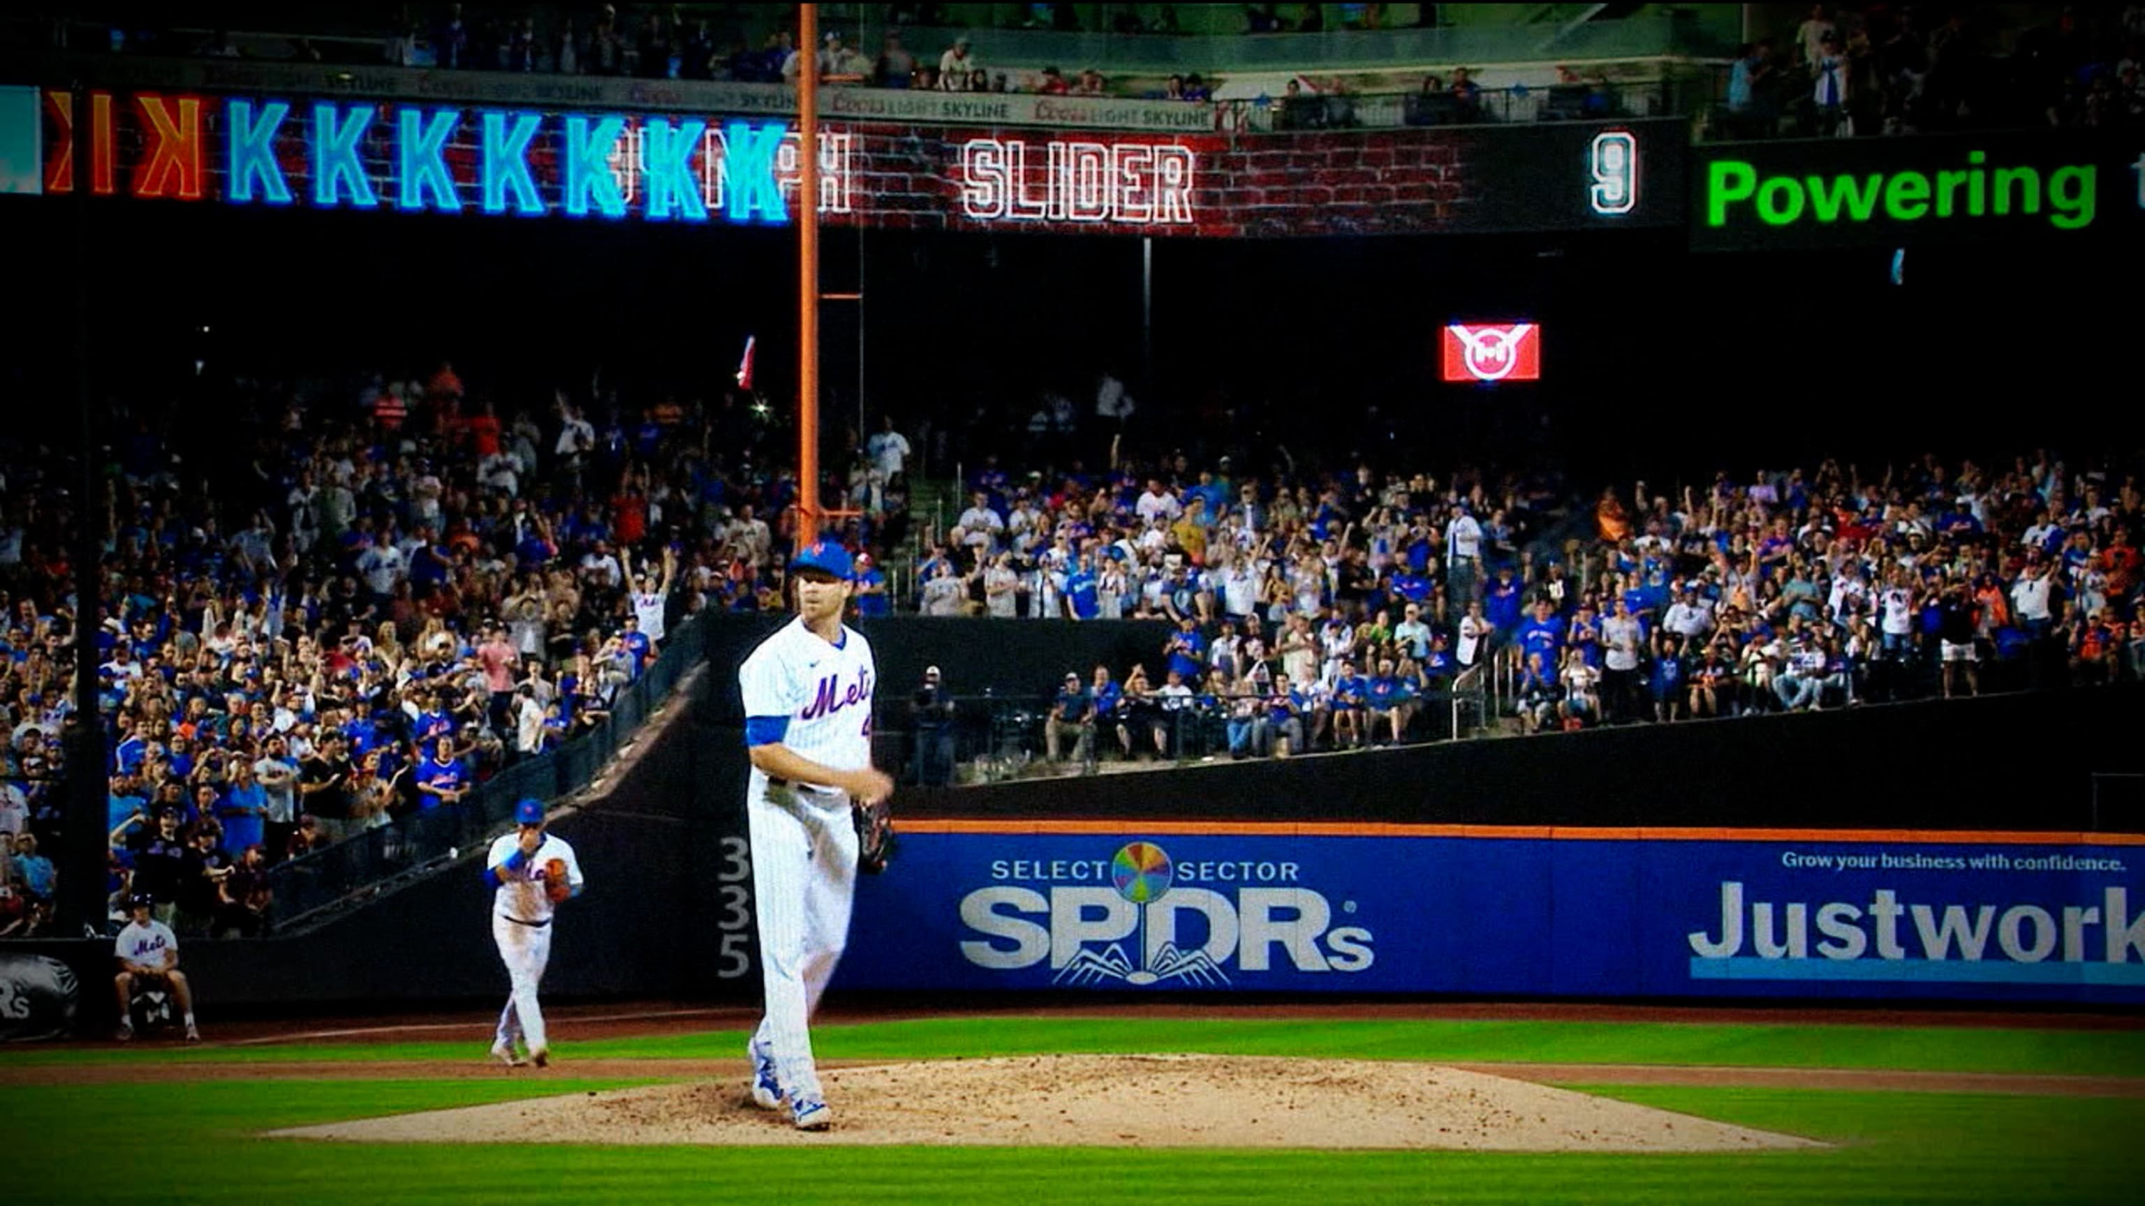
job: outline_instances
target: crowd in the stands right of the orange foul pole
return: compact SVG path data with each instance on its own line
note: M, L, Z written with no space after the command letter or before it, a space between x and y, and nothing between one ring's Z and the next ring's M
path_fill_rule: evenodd
M1012 481L967 483L920 612L1178 629L1124 682L1068 670L1051 760L1448 736L1431 704L1471 667L1517 732L2145 678L2136 479L2048 453L1639 483L1581 530L1514 476Z

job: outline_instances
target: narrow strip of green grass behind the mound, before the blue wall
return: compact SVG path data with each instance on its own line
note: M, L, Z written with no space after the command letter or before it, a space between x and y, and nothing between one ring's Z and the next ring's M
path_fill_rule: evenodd
M573 1024L560 1024L571 1036ZM210 1032L210 1036L214 1036ZM1954 1073L2145 1077L2145 1030L1980 1030L1958 1026L1710 1026L1637 1021L1332 1021L989 1017L813 1028L828 1060L1030 1056L1049 1051L1203 1051L1386 1060L1521 1060L1572 1064L1707 1064L1780 1069L1896 1069ZM470 1060L463 1043L287 1043L262 1047L99 1047L9 1051L0 1067L157 1060ZM575 1058L740 1058L742 1030L553 1045Z

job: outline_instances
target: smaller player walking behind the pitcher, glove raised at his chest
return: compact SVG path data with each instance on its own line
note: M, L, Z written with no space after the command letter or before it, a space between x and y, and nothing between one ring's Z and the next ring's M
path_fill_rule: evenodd
M500 1030L491 1041L491 1058L521 1067L515 1043L538 1069L551 1062L551 1043L543 1030L543 1006L536 985L551 961L551 921L558 906L581 895L581 861L564 837L543 830L543 800L515 805L515 833L502 833L485 858L485 882L491 891L491 940L500 946L511 989L500 1011Z

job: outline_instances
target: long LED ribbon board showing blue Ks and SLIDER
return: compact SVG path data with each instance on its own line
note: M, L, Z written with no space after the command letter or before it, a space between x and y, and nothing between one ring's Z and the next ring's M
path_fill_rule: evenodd
M1680 152L1673 122L1255 137L832 122L817 204L830 225L1214 238L1675 225ZM770 116L0 88L4 193L785 225L798 176L796 129Z

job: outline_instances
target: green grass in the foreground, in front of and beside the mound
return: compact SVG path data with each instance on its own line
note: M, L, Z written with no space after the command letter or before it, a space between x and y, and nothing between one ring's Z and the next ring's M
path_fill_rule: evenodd
M1840 1144L1752 1157L1103 1148L358 1146L270 1127L616 1082L199 1082L6 1088L11 1202L2134 1202L2145 1101L1594 1086Z

